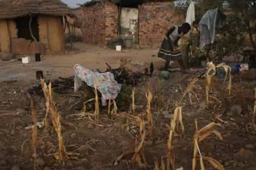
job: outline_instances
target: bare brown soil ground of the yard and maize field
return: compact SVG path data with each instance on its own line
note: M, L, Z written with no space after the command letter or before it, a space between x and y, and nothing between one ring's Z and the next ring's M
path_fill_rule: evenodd
M145 66L135 66L137 63L150 64L154 62L156 69L163 62L157 57L156 50L127 50L120 53L109 49L77 44L80 53L72 52L64 56L45 56L41 62L31 62L23 66L19 62L2 62L0 66L0 168L3 170L19 167L20 170L33 169L32 130L26 130L32 122L30 102L26 90L35 82L35 71L43 70L46 79L59 76L68 77L73 74L72 65L81 64L86 68L105 70L105 62L117 67L121 58L132 60L132 68L141 70ZM143 68L142 68L143 67ZM48 72L47 72L48 71ZM20 74L18 74L20 73ZM10 78L10 74L13 77ZM147 169L154 169L154 160L167 155L167 139L174 102L179 100L193 74L174 72L170 79L162 80L154 74L150 80L153 93L152 112L155 125L154 138L146 138L144 154ZM12 81L13 80L13 81ZM5 82L3 82L5 81ZM256 169L256 128L251 124L254 103L254 82L233 80L231 95L227 95L226 84L216 81L210 98L209 108L205 107L204 79L197 82L195 89L199 101L191 97L193 104L186 96L182 102L183 123L185 134L177 133L173 137L176 168L190 170L193 158L193 135L195 119L198 119L199 129L215 121L221 123L217 128L222 133L223 140L214 135L199 143L204 156L218 160L226 169L253 170ZM129 88L127 88L129 89ZM130 92L129 92L130 91ZM100 118L94 122L89 114L81 115L70 107L74 104L73 94L54 94L54 99L62 117L62 136L67 152L75 152L60 165L53 153L58 152L57 135L54 131L38 129L37 169L44 170L128 170L140 169L132 161L135 139L139 133L137 124L130 122L129 115L143 116L146 114L146 98L144 87L136 91L136 105L142 106L132 114L128 108L131 103L131 90L127 90L125 104L119 103L119 116L106 116L108 108L101 107ZM217 100L216 100L217 99ZM45 100L36 96L37 120L45 116ZM75 115L80 114L80 115ZM219 119L216 117L221 115ZM91 117L93 119L93 117ZM125 154L115 165L117 158ZM199 160L198 160L199 164ZM205 162L207 170L214 169ZM198 166L197 169L200 169Z

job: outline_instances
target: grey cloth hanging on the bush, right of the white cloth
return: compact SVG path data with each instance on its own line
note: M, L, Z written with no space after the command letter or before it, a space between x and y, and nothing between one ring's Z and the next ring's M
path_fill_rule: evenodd
M199 22L201 50L205 45L214 43L217 16L218 8L215 10L208 10Z

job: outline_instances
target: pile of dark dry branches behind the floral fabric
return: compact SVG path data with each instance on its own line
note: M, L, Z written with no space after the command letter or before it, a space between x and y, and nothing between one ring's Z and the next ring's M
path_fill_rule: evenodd
M138 86L138 82L145 82L147 74L145 72L132 72L124 65L127 64L126 61L121 61L120 66L116 69L112 69L111 66L106 63L108 68L104 72L111 72L114 74L115 80L119 84ZM103 73L97 69L98 72ZM45 81L48 85L49 81ZM61 78L52 81L52 89L55 93L59 94L71 94L74 91L74 75L69 78ZM29 94L43 96L43 90L41 84L33 85L29 90Z

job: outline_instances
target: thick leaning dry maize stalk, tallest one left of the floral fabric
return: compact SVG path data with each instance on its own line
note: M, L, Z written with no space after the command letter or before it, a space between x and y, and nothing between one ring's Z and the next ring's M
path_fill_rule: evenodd
M67 154L66 154L66 149L65 149L65 146L63 144L63 139L62 139L62 135L61 135L61 117L60 117L58 109L55 106L55 103L53 101L52 85L51 85L51 83L49 83L49 85L47 86L46 83L43 80L41 80L41 85L42 85L43 92L44 92L44 97L45 97L45 100L46 100L46 103L45 103L45 105L46 105L46 116L48 115L48 113L49 113L49 116L51 116L54 130L55 130L55 132L57 133L57 136L58 136L59 152L58 152L58 154L56 154L54 156L55 156L56 159L59 160L59 163L62 162L62 164L64 164L65 160L67 158Z

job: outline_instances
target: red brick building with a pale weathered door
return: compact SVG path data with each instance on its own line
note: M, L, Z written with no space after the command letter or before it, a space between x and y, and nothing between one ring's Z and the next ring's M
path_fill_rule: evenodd
M76 9L85 43L106 46L108 39L130 37L143 46L159 46L169 27L183 22L174 3L164 0L92 0Z

